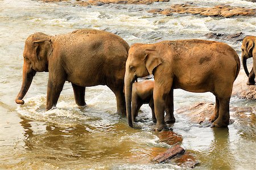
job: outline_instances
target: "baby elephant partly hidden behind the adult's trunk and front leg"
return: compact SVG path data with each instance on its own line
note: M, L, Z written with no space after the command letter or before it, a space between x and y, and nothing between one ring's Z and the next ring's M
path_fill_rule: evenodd
M154 80L143 80L141 82L133 83L133 89L131 94L131 118L134 122L136 121L135 118L138 116L139 108L141 108L143 104L148 104L152 111L152 121L156 123L153 99L154 85ZM165 121L168 123L175 122L172 109L172 105L169 105L166 109L167 114Z

